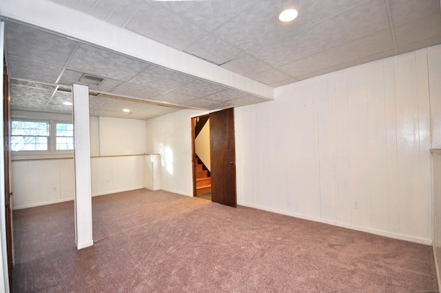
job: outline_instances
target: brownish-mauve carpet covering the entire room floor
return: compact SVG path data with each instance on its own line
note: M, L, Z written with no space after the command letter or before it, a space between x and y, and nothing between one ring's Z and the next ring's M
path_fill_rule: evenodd
M163 191L14 211L13 292L435 292L430 246Z

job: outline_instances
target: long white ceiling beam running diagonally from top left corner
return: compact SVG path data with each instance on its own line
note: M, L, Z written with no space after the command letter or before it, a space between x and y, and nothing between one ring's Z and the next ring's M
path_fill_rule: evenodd
M218 83L225 88L247 92L266 100L274 99L274 89L268 85L58 3L46 0L0 0L0 5L1 15L7 19L22 21L72 39L93 43L127 57ZM12 59L12 62L26 63L19 59ZM38 65L35 67L35 70L39 70Z

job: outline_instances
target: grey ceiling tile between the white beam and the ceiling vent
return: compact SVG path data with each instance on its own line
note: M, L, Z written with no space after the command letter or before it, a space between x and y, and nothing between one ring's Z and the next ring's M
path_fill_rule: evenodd
M97 76L127 81L144 70L145 63L85 44L75 50L67 68Z

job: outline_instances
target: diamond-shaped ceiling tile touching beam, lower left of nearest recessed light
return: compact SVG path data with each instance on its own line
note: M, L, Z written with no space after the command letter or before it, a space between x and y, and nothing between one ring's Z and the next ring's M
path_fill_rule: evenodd
M193 43L184 51L217 65L236 59L240 55L240 50L211 34Z

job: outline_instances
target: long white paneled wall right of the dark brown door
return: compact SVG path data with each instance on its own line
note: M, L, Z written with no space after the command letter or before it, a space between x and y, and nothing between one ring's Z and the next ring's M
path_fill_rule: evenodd
M418 50L236 109L238 204L431 243L434 50L436 60Z

